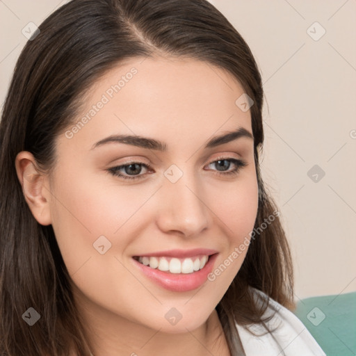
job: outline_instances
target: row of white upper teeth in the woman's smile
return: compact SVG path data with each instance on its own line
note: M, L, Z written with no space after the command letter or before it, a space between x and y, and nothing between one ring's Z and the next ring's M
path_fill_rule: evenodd
M170 273L193 273L204 268L209 256L200 255L199 257L177 259L175 257L139 257L138 261L145 266L158 268Z

